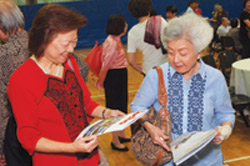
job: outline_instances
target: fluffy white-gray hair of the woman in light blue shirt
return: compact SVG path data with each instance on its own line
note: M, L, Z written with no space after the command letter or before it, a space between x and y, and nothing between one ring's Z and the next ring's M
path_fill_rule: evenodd
M164 45L175 39L187 39L192 42L197 53L204 50L213 38L213 28L208 21L194 13L184 15L169 21L164 29L162 41Z

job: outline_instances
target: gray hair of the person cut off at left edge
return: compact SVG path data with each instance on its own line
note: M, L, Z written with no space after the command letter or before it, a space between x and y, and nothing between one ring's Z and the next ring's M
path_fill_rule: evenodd
M5 34L16 32L24 27L24 17L12 0L0 0L0 29Z

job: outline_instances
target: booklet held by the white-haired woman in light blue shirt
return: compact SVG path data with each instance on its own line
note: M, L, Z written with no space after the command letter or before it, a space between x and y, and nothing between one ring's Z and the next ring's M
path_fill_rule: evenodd
M204 148L215 137L215 130L185 133L170 143L176 165L190 158Z

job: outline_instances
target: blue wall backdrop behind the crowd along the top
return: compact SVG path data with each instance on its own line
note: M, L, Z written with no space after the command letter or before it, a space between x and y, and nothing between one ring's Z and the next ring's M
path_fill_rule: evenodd
M152 0L153 8L157 13L164 18L165 10L168 5L176 5L178 8L178 15L185 12L189 0ZM229 18L239 17L242 11L242 0L200 0L199 8L202 10L204 17L211 17L213 6L216 2L220 2L223 8L229 12ZM137 19L130 16L128 11L128 0L84 0L78 2L64 2L61 3L70 9L77 10L87 17L88 24L79 32L79 40L76 49L93 47L95 41L102 43L105 38L105 27L108 17L112 14L123 14L126 17L130 29L137 23ZM25 16L25 29L29 30L32 20L36 12L44 4L24 5L20 9ZM127 43L127 35L122 37L122 42Z

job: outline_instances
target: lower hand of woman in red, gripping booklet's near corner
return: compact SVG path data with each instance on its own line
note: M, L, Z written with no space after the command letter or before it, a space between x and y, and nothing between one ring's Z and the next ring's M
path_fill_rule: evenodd
M81 153L90 153L92 152L98 145L97 136L87 136L76 139L73 143L73 148L75 152Z

